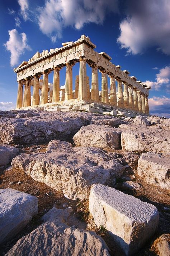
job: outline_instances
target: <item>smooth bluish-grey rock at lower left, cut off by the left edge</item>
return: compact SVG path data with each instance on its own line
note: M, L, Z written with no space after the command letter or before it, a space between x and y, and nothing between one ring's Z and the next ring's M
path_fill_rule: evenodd
M37 213L37 197L11 188L0 189L0 243L14 237Z

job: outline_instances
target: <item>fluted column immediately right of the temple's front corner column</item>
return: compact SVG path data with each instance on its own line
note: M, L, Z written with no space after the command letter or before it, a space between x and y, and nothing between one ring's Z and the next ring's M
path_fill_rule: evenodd
M96 65L92 66L91 99L99 101L98 67Z

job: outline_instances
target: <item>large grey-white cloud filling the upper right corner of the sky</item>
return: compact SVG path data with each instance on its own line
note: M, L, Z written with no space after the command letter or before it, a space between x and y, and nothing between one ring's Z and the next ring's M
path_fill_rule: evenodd
M169 0L130 0L127 17L120 23L121 34L117 42L127 53L142 53L155 46L170 54Z

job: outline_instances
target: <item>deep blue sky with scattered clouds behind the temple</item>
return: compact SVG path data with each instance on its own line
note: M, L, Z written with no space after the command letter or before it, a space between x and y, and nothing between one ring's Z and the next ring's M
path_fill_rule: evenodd
M152 87L151 114L170 117L169 0L8 0L1 1L0 12L1 110L16 103L14 67L85 34L96 51ZM91 77L90 68L87 72ZM78 73L76 64L73 77ZM60 78L64 85L64 68Z

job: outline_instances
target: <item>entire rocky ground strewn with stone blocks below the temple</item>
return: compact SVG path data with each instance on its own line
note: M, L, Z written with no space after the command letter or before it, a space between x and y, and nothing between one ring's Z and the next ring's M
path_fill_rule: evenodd
M169 128L153 116L0 112L0 255L168 255ZM43 237L51 246L36 246Z

